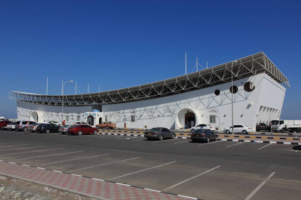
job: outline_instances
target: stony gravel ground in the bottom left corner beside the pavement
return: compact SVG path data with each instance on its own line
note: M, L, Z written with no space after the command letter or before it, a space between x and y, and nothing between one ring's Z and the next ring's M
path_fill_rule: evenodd
M94 200L85 196L58 190L0 175L0 200Z

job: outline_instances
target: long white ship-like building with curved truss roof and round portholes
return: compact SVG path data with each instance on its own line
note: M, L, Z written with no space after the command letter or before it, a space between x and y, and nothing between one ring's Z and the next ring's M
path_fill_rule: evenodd
M259 52L215 67L171 79L99 93L64 95L10 91L17 101L18 120L58 121L66 124L104 121L117 127L180 129L185 121L211 124L218 130L231 126L231 76L234 124L255 130L256 122L279 119L288 79ZM99 111L99 112L92 112Z

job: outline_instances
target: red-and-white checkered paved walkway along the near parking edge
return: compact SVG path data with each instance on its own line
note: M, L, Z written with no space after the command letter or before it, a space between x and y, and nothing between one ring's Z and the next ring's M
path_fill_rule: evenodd
M96 199L197 199L5 161L0 161L0 174Z

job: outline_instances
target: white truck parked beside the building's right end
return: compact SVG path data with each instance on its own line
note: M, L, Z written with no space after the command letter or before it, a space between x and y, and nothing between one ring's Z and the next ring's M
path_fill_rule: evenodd
M287 130L290 133L301 133L301 120L272 120L272 131L284 133Z

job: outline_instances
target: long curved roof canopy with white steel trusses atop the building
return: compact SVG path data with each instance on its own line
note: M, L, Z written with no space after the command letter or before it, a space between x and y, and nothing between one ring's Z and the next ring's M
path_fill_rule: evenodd
M232 61L230 61L208 69L144 85L97 93L64 95L64 106L101 106L180 94L231 82L231 73L233 73L233 80L266 73L279 84L290 88L288 79L263 52L237 59L237 61L237 64L233 64L233 70L231 70ZM10 91L9 99L36 104L62 105L62 95Z

